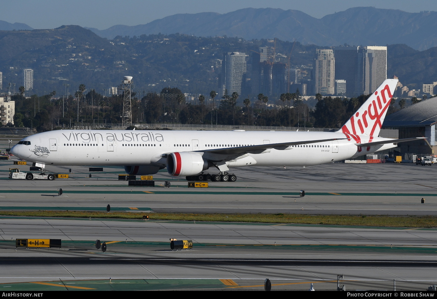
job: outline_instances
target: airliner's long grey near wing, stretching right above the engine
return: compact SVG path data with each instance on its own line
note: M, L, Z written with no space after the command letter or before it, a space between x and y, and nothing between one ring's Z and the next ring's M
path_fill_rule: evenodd
M202 151L197 151L197 152L221 154L221 155L235 155L235 154L243 154L243 153L260 153L262 151L265 151L265 150L271 149L271 148L284 150L291 145L311 144L311 143L317 143L317 142L326 142L326 141L343 140L343 139L347 139L347 138L331 138L331 139L320 139L320 140L270 143L270 144L260 144L260 145L239 146L239 147L234 147L234 148L214 148L214 149L210 149L210 150L202 150Z

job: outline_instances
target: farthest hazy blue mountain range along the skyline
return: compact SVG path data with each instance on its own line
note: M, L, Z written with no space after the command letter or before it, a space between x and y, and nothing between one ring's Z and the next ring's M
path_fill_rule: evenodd
M303 45L338 46L406 44L416 50L437 46L437 12L354 7L317 19L299 10L244 8L226 14L175 14L148 24L87 28L103 38L142 34L228 36L246 40L278 38ZM0 21L0 30L32 30L26 24Z

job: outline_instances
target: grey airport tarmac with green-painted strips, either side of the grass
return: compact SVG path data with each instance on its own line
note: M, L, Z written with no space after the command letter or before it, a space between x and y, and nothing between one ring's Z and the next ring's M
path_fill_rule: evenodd
M0 175L7 175L10 164L0 164ZM210 182L208 189L189 189L186 181L172 179L164 172L154 179L167 179L170 188L128 187L127 182L117 180L119 168L105 168L106 173L86 178L89 172L81 167L72 169L73 178L67 180L1 180L0 206L2 210L105 210L110 204L111 209L132 213L435 215L433 166L335 163L297 169L253 167L237 169L235 183ZM67 169L53 171L65 173ZM64 190L62 196L57 196L59 188ZM298 196L300 189L306 191L303 198ZM128 289L261 290L264 279L269 278L274 290L305 290L311 282L316 290L335 290L337 275L343 274L341 284L347 290L390 290L393 284L396 289L425 290L436 284L435 232L2 217L0 282L6 284L0 287L121 290L129 284ZM191 251L170 251L171 237L192 240L194 247ZM16 238L62 239L62 248L16 250ZM109 242L105 253L95 248L97 239ZM111 284L109 278L113 279Z

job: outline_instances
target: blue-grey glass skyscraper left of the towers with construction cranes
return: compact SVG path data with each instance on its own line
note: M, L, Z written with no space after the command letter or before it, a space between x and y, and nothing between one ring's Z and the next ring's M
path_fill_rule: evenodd
M243 78L246 78L246 53L230 52L223 55L222 62L223 92L228 90L229 94L237 92L241 94Z

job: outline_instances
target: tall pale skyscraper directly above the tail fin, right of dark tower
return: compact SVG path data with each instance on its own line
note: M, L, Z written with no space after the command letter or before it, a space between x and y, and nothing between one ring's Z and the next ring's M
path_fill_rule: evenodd
M367 46L358 50L355 95L370 94L387 79L387 47Z

